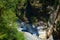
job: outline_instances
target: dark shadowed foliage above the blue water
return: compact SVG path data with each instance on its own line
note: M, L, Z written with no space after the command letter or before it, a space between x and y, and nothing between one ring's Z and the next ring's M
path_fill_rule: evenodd
M58 0L22 0L17 5L17 13L16 15L20 20L24 20L26 17L30 23L34 21L34 18L31 20L31 17L36 17L37 22L43 20L47 22L49 20L49 12L56 10L57 5L59 4ZM47 8L51 6L51 8Z

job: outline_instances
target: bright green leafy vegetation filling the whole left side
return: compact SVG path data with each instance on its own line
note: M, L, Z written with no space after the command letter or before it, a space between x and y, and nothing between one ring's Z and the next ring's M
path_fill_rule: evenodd
M0 0L0 40L24 40L24 35L17 30L15 15L19 0Z

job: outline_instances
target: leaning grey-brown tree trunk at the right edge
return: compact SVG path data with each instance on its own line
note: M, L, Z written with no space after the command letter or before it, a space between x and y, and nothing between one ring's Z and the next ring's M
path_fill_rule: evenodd
M50 26L50 28L49 28L48 35L52 34L52 32L56 32L56 30L54 30L54 29L57 28L56 24L58 21L56 21L56 20L57 20L58 15L59 15L59 9L60 9L59 3L60 2L58 1L58 4L57 5L55 4L56 9L50 15L50 24L48 24ZM54 33L53 33L53 35L54 35ZM56 38L56 36L55 36L55 38Z

